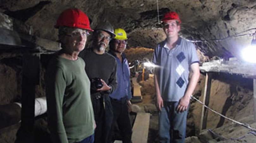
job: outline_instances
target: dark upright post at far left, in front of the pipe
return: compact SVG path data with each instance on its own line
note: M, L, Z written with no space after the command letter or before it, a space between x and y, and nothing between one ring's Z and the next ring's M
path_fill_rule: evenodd
M21 127L15 143L34 143L35 85L39 84L40 59L32 53L23 54Z

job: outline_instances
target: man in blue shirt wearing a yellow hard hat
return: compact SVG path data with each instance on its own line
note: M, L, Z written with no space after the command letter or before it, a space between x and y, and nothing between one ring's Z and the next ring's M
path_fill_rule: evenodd
M131 143L131 122L129 112L131 112L131 85L130 70L125 54L123 54L126 44L127 35L125 30L118 28L114 30L116 37L110 41L109 53L116 58L117 63L117 88L110 94L111 104L113 107L113 124L118 124L121 131L123 143Z

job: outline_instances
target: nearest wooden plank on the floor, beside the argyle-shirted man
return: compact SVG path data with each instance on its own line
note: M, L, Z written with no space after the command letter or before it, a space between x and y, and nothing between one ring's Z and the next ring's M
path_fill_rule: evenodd
M147 143L149 133L149 113L137 113L132 127L132 143Z

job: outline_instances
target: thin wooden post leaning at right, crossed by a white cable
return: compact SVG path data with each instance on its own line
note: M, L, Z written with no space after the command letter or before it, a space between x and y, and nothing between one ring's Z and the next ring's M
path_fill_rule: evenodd
M204 97L202 101L206 106L209 105L209 101L210 101L211 79L212 79L212 74L209 72L206 72L205 85L204 85ZM201 114L200 131L203 129L206 129L207 116L208 116L208 110L203 106L202 114Z

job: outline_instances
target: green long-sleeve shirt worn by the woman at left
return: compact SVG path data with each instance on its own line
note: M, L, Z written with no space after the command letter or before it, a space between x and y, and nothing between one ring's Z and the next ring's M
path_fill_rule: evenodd
M90 81L82 58L53 58L46 71L48 124L54 143L81 141L94 133Z

